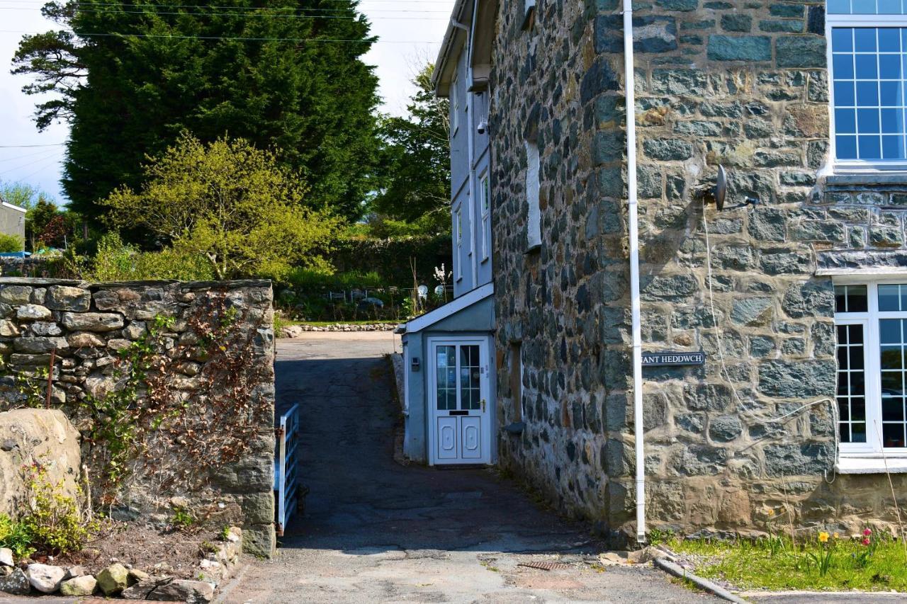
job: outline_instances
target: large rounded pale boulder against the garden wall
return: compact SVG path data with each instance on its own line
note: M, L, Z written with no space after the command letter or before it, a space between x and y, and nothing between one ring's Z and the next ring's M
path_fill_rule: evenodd
M82 467L80 434L59 409L15 409L0 413L0 513L14 514L26 488L22 466L41 461L47 480L62 484L61 495L78 500ZM8 447L8 444L14 446Z

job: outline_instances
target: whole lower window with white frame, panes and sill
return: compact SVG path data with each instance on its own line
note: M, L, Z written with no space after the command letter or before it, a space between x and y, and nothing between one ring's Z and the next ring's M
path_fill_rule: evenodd
M907 470L907 278L834 278L838 471Z

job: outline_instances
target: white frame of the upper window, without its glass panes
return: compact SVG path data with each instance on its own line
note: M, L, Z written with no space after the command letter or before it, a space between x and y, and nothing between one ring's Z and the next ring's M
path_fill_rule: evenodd
M907 27L907 15L825 15L825 53L828 68L829 153L834 172L839 174L907 173L904 160L838 160L834 130L834 72L832 29L834 27ZM905 53L907 54L907 53ZM904 78L907 80L907 78ZM905 100L907 105L907 100Z

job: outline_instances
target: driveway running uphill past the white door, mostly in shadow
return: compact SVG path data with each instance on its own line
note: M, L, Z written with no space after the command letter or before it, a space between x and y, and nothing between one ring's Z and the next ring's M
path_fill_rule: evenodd
M302 403L305 513L241 602L703 602L658 570L595 563L588 530L490 470L395 463L390 334L278 341L278 406ZM561 568L520 566L557 561Z

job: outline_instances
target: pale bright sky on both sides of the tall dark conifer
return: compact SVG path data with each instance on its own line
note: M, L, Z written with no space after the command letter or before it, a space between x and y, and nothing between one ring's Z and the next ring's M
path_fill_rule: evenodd
M365 61L375 65L378 93L384 100L382 112L405 114L414 93L410 81L424 63L434 61L453 2L360 0L360 11L371 22L372 34L378 36ZM59 180L68 128L53 124L38 132L32 120L38 99L22 93L26 76L10 73L22 34L57 28L41 15L43 4L42 0L0 0L0 181L23 182L65 203Z

